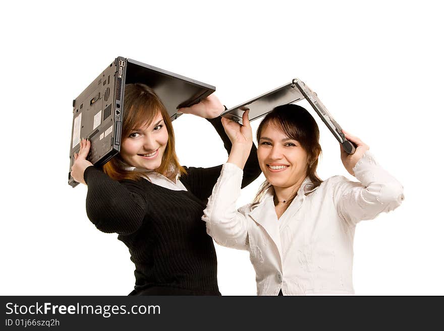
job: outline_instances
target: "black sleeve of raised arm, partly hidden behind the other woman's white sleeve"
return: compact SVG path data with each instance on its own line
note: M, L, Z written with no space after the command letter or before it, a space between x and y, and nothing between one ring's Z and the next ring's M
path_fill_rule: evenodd
M214 126L217 134L220 136L224 142L224 147L230 154L231 151L231 141L225 133L224 126L221 123L221 117L216 117L208 119L208 121ZM186 168L187 174L181 177L181 181L187 184L190 191L193 192L200 200L206 202L211 194L214 184L220 175L220 170L222 165L210 167L210 168ZM250 184L255 180L261 173L259 162L257 160L257 149L253 144L250 150L250 155L244 167L243 177L242 177L242 188Z

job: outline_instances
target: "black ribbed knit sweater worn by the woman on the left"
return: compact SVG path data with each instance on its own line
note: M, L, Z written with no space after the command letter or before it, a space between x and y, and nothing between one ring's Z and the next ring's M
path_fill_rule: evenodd
M231 143L220 117L209 120L224 141ZM86 212L103 232L119 233L136 266L131 294L220 295L213 241L201 220L222 166L186 168L180 180L188 191L175 191L146 179L121 182L88 167ZM260 174L253 145L242 186Z

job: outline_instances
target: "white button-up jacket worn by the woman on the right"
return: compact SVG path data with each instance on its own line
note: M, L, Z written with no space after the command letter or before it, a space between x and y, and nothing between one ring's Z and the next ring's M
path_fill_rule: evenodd
M352 295L353 238L360 220L392 211L403 186L370 152L353 168L360 182L330 177L311 193L307 177L278 217L268 190L259 204L236 210L243 171L226 163L202 219L223 246L250 251L258 295Z

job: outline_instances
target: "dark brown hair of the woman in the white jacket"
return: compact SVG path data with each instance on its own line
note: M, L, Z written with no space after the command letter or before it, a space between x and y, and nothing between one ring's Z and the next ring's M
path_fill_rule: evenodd
M319 186L322 182L316 174L318 158L322 152L319 145L319 127L316 121L304 107L294 104L275 107L264 117L257 128L256 138L258 144L262 129L270 123L281 129L289 138L297 140L305 152L307 152L308 166L306 176L312 182L312 185L306 187L305 194L308 194L309 191ZM267 189L271 186L265 180L259 187L253 203L259 203ZM291 204L296 194L297 192L289 199L288 205Z

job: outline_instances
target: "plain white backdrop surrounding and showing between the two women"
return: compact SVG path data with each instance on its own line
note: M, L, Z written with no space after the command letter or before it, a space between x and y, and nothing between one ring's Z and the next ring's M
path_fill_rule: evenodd
M356 294L443 295L444 26L438 3L4 4L0 294L132 290L128 249L88 220L86 186L67 184L72 100L124 56L214 85L228 107L292 78L305 81L405 187L399 209L356 228ZM320 177L346 175L336 140L318 123ZM205 120L183 115L174 127L182 164L226 161ZM239 206L262 180L244 189ZM220 292L255 295L248 253L216 250Z

